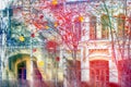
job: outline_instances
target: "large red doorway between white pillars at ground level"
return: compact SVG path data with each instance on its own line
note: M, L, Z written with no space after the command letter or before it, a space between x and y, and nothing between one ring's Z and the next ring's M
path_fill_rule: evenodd
M93 87L108 87L109 64L105 60L90 61L90 82Z

